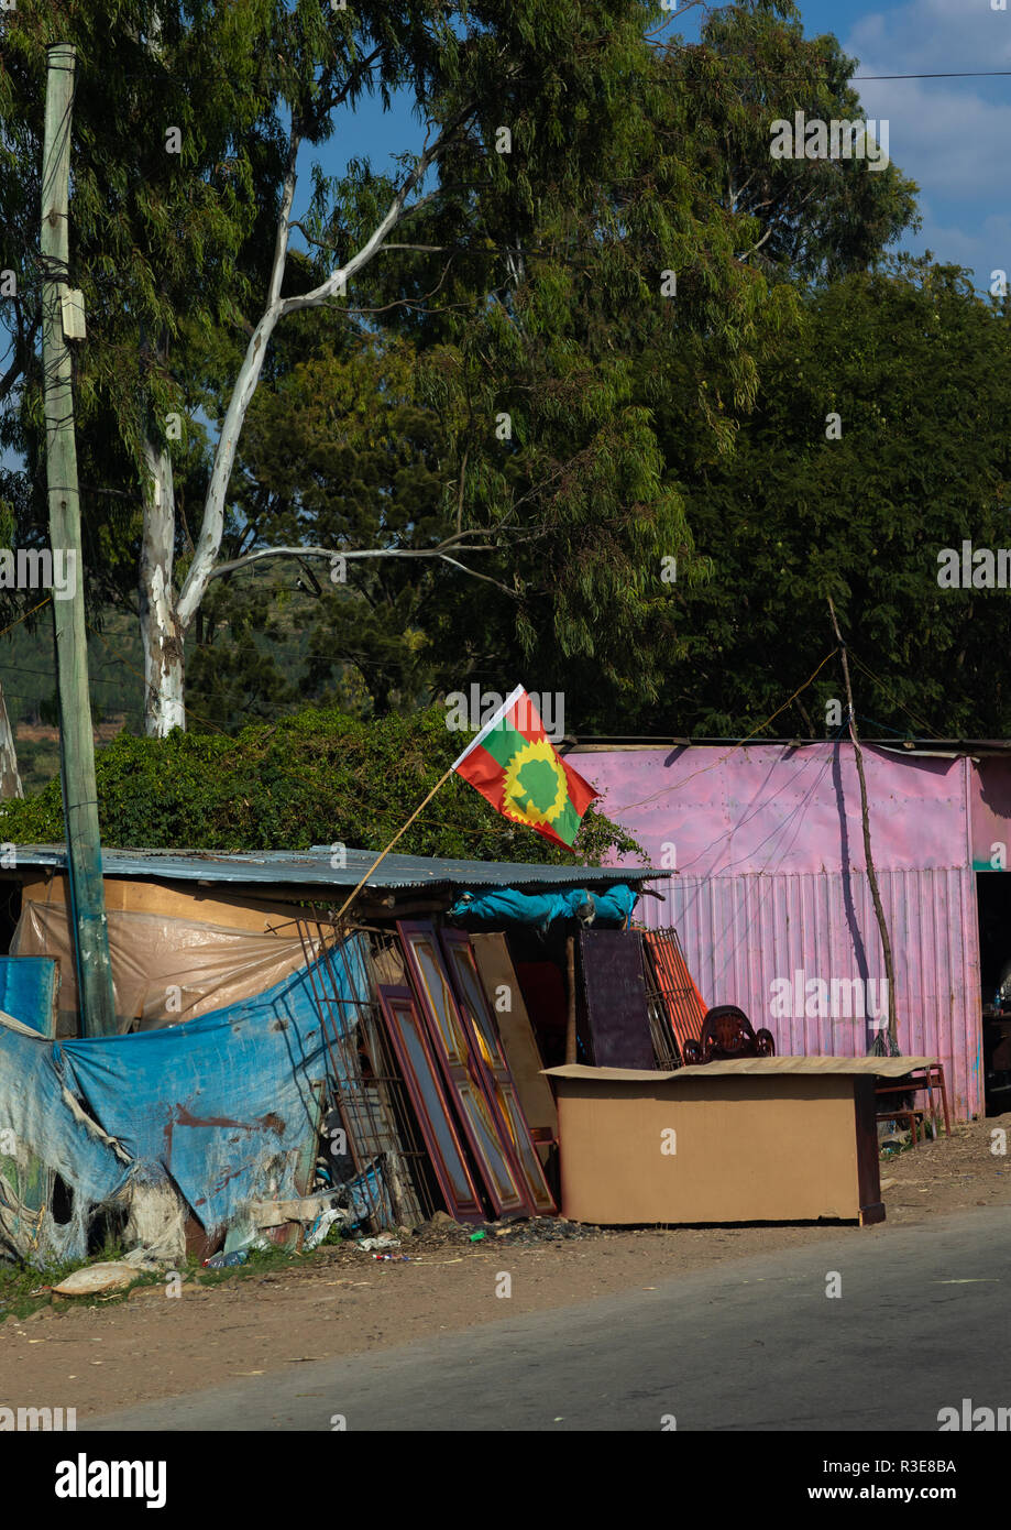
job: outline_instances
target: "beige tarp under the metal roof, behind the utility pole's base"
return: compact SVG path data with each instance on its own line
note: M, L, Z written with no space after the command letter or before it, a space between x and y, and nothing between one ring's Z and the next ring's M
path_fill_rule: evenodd
M116 1016L122 1030L135 1021L142 1031L176 1025L237 999L251 999L306 961L291 926L283 935L258 935L161 913L110 909L107 918ZM61 903L23 904L11 955L55 956L60 1013L76 1014L73 952Z

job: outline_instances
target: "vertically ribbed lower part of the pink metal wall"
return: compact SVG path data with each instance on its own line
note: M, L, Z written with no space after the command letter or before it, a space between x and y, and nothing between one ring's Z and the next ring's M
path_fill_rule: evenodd
M941 1057L953 1112L965 1120L982 1111L971 872L886 871L878 881L895 953L899 1050ZM878 1008L884 961L864 874L671 877L655 886L665 901L644 898L639 915L653 929L676 926L708 1005L739 1004L756 1030L768 1025L779 1053L866 1056L873 1024L818 1014L818 994L806 988L817 978L872 978ZM774 1013L774 994L783 991L772 988L775 979L798 988L800 1005L785 1007L800 1013Z

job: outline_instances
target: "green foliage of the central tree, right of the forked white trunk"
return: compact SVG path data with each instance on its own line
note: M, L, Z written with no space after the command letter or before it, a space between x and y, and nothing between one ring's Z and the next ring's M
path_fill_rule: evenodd
M480 199L447 190L413 256L370 268L367 320L278 344L242 444L243 534L424 548L473 529L489 551L468 562L496 581L349 565L307 617L310 693L330 678L340 695L350 664L378 711L519 678L564 690L583 728L656 715L696 649L662 569L676 560L678 594L716 572L693 482L733 453L762 358L803 321L797 291L913 219L893 165L769 158L777 115L858 115L852 67L789 5L720 11L699 46L641 50L592 188L514 226L515 133ZM450 184L457 168L447 156ZM340 219L318 233L347 237Z

